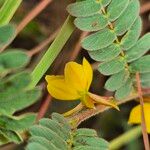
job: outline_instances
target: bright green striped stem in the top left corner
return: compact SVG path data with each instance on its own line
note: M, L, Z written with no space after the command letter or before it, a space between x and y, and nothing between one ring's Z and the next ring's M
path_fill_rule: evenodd
M0 9L0 26L8 24L22 0L6 0Z

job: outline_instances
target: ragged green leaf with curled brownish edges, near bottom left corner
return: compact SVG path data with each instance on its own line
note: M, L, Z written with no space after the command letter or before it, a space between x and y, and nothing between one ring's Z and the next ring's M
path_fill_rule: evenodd
M25 114L19 117L0 116L0 145L23 141L21 133L28 129L35 121L35 114Z

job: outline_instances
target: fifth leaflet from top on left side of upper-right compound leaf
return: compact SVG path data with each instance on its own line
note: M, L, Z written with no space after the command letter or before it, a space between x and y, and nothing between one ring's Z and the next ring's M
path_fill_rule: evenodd
M112 75L125 69L125 59L118 57L111 61L101 63L98 70L104 75Z

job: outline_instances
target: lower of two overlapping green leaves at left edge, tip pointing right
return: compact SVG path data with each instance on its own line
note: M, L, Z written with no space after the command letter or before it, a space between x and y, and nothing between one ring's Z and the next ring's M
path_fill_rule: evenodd
M1 92L0 93L0 113L10 115L15 111L22 110L37 101L40 97L40 90L35 88L30 91L22 91L17 93Z

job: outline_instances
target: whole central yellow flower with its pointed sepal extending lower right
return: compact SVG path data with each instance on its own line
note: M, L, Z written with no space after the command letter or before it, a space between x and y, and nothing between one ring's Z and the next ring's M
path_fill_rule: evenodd
M46 76L48 92L56 99L81 100L87 108L94 108L95 103L101 103L118 109L114 102L89 92L92 79L92 67L85 58L82 65L76 62L67 63L64 76Z

